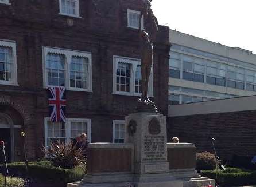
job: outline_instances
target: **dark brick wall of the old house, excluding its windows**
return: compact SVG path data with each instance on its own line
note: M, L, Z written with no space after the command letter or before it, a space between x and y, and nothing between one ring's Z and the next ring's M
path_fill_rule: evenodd
M138 30L127 27L127 9L141 9L135 0L80 0L80 16L59 14L59 0L10 0L0 3L0 39L16 41L19 86L0 85L5 97L24 119L31 157L40 156L44 144L44 117L48 117L43 88L42 46L60 47L92 54L92 93L67 91L67 117L90 118L92 141L112 141L112 120L132 113L138 97L114 95L113 55L140 58ZM73 26L67 22L73 21ZM169 28L161 26L154 46L153 100L168 113ZM0 102L0 107L9 102ZM24 130L22 129L22 130ZM34 151L36 150L36 152Z

